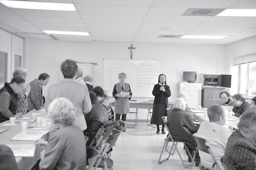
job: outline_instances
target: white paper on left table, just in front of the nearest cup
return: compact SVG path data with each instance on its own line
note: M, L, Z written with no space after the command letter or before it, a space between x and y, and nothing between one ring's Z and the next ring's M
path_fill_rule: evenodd
M13 136L11 141L36 141L48 132L49 130L25 130Z

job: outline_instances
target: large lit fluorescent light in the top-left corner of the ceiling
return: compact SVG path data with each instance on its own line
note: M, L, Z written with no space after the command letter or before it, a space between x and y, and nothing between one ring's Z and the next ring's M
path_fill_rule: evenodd
M9 8L76 11L76 8L73 4L29 2L16 0L1 0L0 2Z

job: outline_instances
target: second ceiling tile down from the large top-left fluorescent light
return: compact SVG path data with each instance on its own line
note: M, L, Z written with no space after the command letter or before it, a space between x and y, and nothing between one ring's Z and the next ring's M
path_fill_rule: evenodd
M38 22L57 22L57 23L83 23L81 18L63 18L63 17L38 17L21 15L26 21L38 21Z

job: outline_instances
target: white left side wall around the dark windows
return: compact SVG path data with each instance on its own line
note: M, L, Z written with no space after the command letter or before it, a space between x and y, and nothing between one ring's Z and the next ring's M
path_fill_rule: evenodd
M8 53L7 82L10 82L13 77L15 55L21 56L22 61L24 59L24 39L0 29L0 51ZM2 86L3 84L0 84L0 88Z

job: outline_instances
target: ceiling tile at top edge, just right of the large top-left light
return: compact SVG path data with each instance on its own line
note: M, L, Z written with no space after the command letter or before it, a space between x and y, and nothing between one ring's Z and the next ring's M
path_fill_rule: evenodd
M150 6L153 0L73 0L76 4Z

